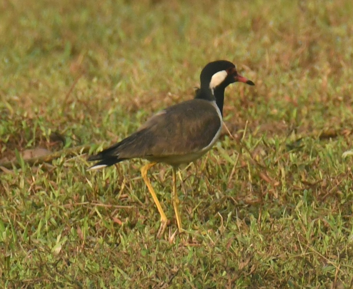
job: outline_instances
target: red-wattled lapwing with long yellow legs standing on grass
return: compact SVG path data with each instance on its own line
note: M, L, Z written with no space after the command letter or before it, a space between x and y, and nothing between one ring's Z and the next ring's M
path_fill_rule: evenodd
M157 238L163 235L168 219L147 176L148 170L157 163L172 166L172 203L179 232L183 232L178 209L177 170L180 165L200 158L218 140L223 126L225 88L234 82L255 85L239 75L230 61L216 60L208 63L201 71L200 88L196 90L194 99L157 112L130 136L88 157L88 161L98 161L88 170L101 169L134 158L149 161L141 168L141 175L161 217Z

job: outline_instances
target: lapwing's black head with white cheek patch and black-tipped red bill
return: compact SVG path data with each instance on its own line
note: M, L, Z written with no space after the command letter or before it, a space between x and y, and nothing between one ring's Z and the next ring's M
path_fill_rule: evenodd
M239 75L235 65L227 60L216 60L207 64L200 75L201 88L214 90L217 87L226 88L233 82L244 82L249 85L254 83Z

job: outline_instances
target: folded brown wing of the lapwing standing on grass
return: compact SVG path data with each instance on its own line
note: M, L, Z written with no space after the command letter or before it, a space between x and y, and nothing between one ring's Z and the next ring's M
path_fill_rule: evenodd
M220 117L209 101L193 99L152 116L137 132L115 146L119 158L167 157L207 147L220 129Z

